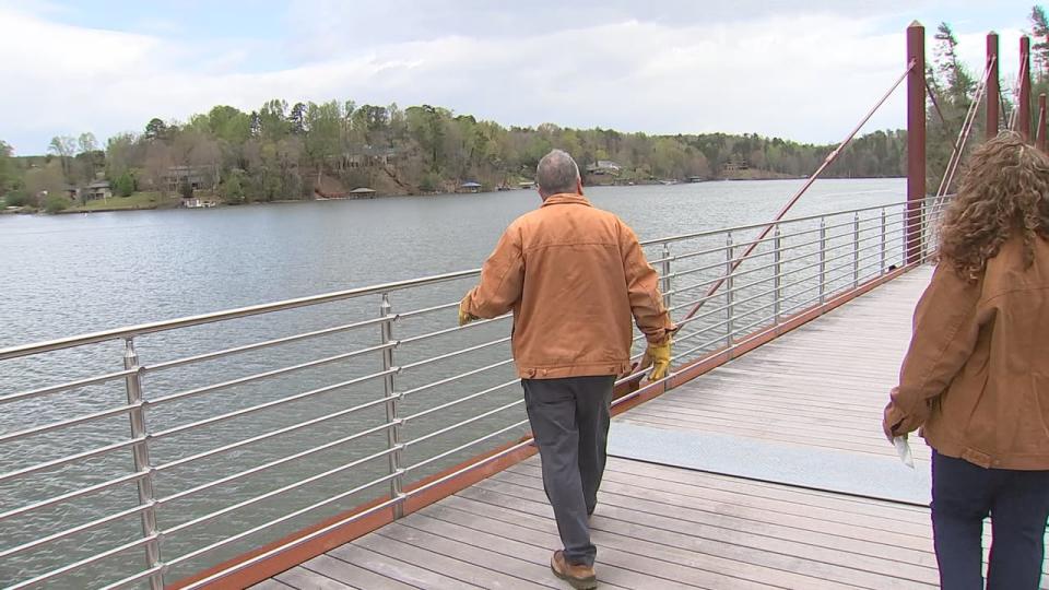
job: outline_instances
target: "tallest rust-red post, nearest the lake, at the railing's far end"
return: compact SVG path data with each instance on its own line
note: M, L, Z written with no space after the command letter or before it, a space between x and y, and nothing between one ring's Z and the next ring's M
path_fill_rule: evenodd
M921 210L926 200L926 27L907 27L907 263L921 258Z

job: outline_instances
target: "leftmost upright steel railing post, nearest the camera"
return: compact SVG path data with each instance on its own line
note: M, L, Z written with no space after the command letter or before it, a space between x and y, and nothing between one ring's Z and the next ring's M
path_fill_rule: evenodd
M144 475L138 482L139 504L146 506L142 511L142 535L156 534L156 504L153 493L153 464L150 462L150 444L145 425L145 406L142 402L142 370L139 364L139 354L134 350L134 340L127 338L123 341L123 368L134 370L123 378L128 394L128 405L133 406L129 412L131 418L131 438L144 438L131 447L131 457L134 460L135 473ZM145 567L152 569L161 564L161 543L154 539L145 545ZM150 576L150 588L163 590L164 573L157 571Z

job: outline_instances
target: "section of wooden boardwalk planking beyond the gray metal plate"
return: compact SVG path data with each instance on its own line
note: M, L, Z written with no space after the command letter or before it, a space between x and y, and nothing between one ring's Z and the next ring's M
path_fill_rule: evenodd
M881 413L930 269L892 281L617 420L879 456ZM924 445L914 445L924 461Z

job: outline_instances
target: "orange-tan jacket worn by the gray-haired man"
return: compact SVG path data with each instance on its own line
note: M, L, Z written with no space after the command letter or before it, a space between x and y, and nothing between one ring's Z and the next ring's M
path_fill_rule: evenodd
M514 311L514 359L527 379L622 375L632 316L652 343L671 328L634 232L581 194L554 194L511 223L462 305L479 318Z

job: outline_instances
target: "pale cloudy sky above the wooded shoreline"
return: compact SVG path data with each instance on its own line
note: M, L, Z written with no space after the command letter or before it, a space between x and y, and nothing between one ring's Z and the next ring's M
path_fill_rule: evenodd
M281 97L433 104L504 125L838 141L903 71L904 28L951 23L1003 79L1014 0L0 0L0 139L43 153L152 117ZM1003 82L1005 85L1007 82ZM869 130L898 128L894 99Z

